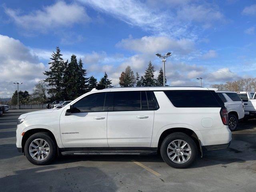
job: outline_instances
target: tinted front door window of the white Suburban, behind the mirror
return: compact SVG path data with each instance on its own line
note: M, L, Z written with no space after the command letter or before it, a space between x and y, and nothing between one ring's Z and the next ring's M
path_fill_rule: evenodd
M104 111L106 92L90 94L73 106L72 112L101 112ZM106 111L106 109L105 109Z

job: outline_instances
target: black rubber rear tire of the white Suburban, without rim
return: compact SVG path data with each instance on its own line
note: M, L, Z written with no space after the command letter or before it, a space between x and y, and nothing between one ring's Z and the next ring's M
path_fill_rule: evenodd
M190 145L191 156L187 160L187 162L178 164L178 163L173 162L172 160L170 160L170 158L168 157L167 147L174 140L184 140L185 142L187 142ZM198 154L198 149L197 149L196 143L194 142L194 140L190 136L188 136L187 134L182 133L182 132L175 132L175 133L172 133L172 134L168 135L163 140L163 142L161 144L161 147L160 147L160 154L161 154L162 159L164 160L164 162L166 162L169 166L171 166L173 168L187 168L196 160L196 157L197 157L197 154Z

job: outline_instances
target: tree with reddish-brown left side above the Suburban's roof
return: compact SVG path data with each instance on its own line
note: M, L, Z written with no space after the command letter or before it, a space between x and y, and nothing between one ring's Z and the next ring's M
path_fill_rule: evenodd
M136 83L136 79L134 77L134 72L132 71L130 66L127 66L125 71L122 72L119 78L119 84L121 87L133 87Z

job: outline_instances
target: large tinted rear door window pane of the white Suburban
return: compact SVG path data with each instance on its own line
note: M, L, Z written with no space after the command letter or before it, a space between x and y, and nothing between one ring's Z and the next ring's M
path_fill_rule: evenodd
M114 111L141 110L140 91L114 92Z

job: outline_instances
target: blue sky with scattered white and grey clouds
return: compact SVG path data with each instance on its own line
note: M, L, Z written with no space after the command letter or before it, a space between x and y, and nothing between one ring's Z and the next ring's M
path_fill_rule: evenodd
M126 66L167 84L203 86L255 78L256 0L3 0L0 2L0 98L33 91L56 46L81 58L88 77L107 72L118 86Z

